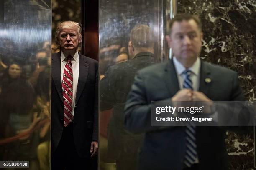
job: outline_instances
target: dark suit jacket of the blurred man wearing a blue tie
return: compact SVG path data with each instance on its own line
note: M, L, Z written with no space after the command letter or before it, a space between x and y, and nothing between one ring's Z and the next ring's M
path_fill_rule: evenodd
M205 78L211 82L206 83ZM146 132L141 148L140 170L182 170L185 154L185 127L160 129L151 126L151 101L171 103L179 90L173 61L140 70L125 105L125 125L133 133ZM244 100L236 72L201 60L200 87L213 101ZM197 126L197 153L200 170L227 170L225 130Z

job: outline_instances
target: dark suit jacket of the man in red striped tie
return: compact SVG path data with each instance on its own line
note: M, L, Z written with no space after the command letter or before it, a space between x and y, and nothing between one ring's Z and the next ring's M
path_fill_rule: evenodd
M64 105L60 52L52 54L51 65L51 152L63 132ZM73 119L74 144L81 157L90 157L92 140L98 138L98 62L79 54L79 78Z

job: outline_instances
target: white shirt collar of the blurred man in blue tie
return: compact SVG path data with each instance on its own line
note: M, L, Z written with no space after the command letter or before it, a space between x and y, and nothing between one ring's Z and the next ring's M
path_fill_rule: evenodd
M173 63L178 75L182 75L182 73L186 70L186 68L182 65L182 63L180 63L177 60L176 57L173 57ZM197 57L197 60L195 61L195 63L191 67L189 67L188 70L190 70L195 75L199 75L200 63L201 63L200 58Z

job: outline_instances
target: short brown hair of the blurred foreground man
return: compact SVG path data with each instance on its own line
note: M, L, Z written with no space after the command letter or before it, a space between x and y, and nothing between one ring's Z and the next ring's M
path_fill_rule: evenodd
M172 33L172 25L174 24L174 22L176 22L176 21L182 22L183 20L186 20L186 21L194 20L197 23L199 30L202 31L202 23L201 23L200 19L197 18L197 16L188 14L188 13L182 13L182 14L175 15L174 18L172 18L172 20L169 20L168 30L167 30L168 35L171 35L171 33Z

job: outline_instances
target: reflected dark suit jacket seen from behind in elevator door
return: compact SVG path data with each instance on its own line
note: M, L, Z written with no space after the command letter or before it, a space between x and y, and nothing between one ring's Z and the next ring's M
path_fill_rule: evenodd
M113 108L108 122L108 156L112 159L137 159L143 136L126 130L123 110L136 72L154 63L152 53L141 52L132 60L111 66L100 81L100 110Z

